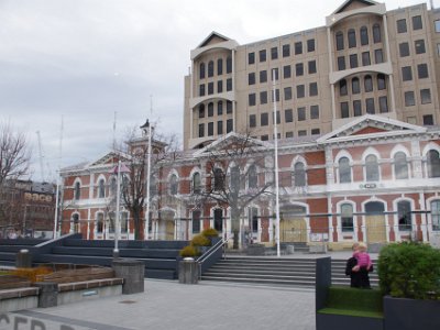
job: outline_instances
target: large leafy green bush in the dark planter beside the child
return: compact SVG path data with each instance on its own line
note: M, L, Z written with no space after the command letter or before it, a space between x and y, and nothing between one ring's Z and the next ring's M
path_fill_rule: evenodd
M440 251L430 245L404 242L383 248L377 273L384 295L440 299Z

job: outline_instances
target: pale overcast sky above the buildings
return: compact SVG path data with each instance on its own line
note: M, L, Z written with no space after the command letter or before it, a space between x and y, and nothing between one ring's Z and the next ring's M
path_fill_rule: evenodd
M343 0L0 0L0 121L28 132L33 178L92 161L150 118L182 139L190 50L212 31L239 44L324 25ZM388 0L387 10L421 3ZM436 3L437 1L435 1ZM436 3L437 4L437 3Z

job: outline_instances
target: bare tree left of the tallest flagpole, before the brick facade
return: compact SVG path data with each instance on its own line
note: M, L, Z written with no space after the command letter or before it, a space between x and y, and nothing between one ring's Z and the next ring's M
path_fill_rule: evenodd
M239 248L240 218L253 201L273 195L273 155L263 142L232 134L208 146L205 153L208 180L199 196L229 206L233 249Z

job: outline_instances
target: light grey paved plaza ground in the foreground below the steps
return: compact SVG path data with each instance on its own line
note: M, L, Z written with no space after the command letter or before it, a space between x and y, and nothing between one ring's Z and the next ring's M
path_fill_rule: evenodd
M145 279L143 294L11 312L8 317L11 324L6 326L0 318L0 329L14 329L12 320L21 318L26 323L18 329L31 329L34 320L45 327L36 327L38 330L312 330L315 292Z

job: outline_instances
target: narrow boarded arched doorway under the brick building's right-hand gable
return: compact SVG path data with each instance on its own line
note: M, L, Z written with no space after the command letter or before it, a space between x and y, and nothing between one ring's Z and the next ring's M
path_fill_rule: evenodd
M367 243L385 243L385 206L382 201L365 204L365 231Z

